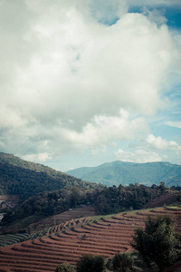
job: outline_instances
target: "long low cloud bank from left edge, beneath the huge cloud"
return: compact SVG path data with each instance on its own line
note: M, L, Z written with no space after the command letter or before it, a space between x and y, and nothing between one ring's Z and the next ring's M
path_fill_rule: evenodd
M104 150L106 146L114 145L115 141L133 140L138 133L148 133L147 122L142 117L130 118L129 112L121 110L118 116L95 116L81 131L62 127L61 123L50 124L49 127L33 122L25 129L24 126L14 128L12 135L9 134L4 141L11 152L25 150L24 159L44 161L89 148L94 153L97 149Z

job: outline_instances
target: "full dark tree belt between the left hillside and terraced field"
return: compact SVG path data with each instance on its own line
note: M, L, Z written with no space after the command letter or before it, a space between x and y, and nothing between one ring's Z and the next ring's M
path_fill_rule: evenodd
M165 194L167 188L164 182L159 186L130 184L127 187L119 185L90 190L87 188L71 187L52 192L42 192L33 196L16 209L14 212L7 212L2 225L12 224L14 220L22 220L31 216L52 216L62 213L68 209L77 208L81 205L93 205L97 214L112 214L120 211L142 209L150 200Z

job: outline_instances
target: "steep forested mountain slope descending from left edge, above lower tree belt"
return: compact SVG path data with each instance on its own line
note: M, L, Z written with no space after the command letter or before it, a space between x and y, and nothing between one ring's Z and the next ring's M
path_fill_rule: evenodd
M65 187L100 188L96 183L0 152L0 195L18 195L23 202L39 192Z

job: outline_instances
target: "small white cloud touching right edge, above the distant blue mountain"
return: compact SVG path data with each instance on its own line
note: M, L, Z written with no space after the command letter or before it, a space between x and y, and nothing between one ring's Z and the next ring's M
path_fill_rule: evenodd
M160 136L155 137L153 134L149 134L146 141L148 145L157 150L181 151L181 146L179 146L176 141L167 141Z

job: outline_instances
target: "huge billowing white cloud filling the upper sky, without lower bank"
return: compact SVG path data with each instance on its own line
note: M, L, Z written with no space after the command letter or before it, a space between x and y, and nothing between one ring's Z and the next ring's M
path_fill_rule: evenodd
M22 115L33 112L36 119L43 115L43 120L51 114L73 121L83 116L85 122L95 113L112 114L125 105L145 114L156 112L160 85L175 52L166 27L157 29L136 14L107 27L87 21L74 5L56 4L50 10L42 1L39 5L43 15L39 11L26 32L19 33L22 43L15 52L14 44L5 49L5 63L8 59L14 71L6 90L11 99L2 100L4 104L16 105ZM26 47L30 53L24 52ZM17 59L9 59L10 50Z

